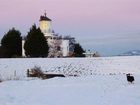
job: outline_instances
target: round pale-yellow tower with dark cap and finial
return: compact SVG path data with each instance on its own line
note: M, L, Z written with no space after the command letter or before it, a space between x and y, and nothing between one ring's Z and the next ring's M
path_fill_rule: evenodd
M51 35L51 21L52 20L46 16L46 11L44 15L40 16L39 27L42 33L45 35L45 37L52 36Z

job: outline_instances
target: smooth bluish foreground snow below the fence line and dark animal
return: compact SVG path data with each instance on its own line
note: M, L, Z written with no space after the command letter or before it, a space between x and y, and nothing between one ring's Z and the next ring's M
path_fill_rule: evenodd
M140 77L125 75L0 83L0 105L140 105Z

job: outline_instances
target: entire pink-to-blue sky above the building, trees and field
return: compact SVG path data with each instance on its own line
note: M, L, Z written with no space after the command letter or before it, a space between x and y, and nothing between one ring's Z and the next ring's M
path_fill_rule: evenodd
M0 0L0 38L12 27L27 35L47 11L52 29L102 56L140 49L140 0Z

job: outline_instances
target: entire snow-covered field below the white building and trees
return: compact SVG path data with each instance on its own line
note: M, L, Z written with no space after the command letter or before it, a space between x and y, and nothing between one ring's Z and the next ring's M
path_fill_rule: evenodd
M27 79L34 66L79 77ZM126 73L134 75L134 84ZM0 59L0 75L19 79L0 83L0 105L140 105L140 56Z

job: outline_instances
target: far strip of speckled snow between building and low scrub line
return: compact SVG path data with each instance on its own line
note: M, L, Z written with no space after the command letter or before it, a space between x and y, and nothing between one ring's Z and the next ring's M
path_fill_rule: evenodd
M40 66L43 71L65 75L140 74L140 56L0 59L0 78L25 78L27 69L34 66Z

